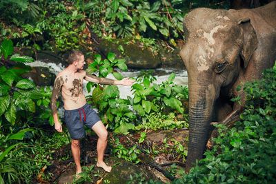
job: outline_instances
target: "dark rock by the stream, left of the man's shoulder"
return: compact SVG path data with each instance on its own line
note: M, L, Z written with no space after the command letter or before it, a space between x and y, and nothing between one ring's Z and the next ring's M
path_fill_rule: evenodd
M52 74L49 68L32 67L32 70L22 75L23 78L32 79L36 85L46 86L53 85L55 82L55 74Z

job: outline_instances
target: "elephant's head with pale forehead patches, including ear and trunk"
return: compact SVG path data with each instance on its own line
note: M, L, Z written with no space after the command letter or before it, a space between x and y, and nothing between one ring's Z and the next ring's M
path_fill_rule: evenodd
M250 65L257 36L250 19L207 8L190 12L184 19L184 29L186 43L180 56L189 80L188 172L195 160L202 158L210 123L221 120L218 104L230 101L240 74ZM233 104L228 106L233 110Z

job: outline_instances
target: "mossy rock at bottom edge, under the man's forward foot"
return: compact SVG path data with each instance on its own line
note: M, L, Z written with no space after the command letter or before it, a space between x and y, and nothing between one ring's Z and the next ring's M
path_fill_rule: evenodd
M153 176L147 170L142 170L138 165L134 163L130 163L125 161L124 159L118 158L109 158L106 159L109 165L112 165L112 170L110 173L103 176L103 183L105 181L109 181L112 184L121 184L121 183L145 183L146 181L157 180L155 176ZM132 180L130 179L130 174L132 176Z

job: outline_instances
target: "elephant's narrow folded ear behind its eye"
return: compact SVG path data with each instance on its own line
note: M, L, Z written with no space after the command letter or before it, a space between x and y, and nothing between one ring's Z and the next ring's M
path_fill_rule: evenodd
M243 30L244 40L241 57L244 60L244 68L246 68L254 50L257 48L257 34L251 25L249 18L241 19L237 23L242 26Z

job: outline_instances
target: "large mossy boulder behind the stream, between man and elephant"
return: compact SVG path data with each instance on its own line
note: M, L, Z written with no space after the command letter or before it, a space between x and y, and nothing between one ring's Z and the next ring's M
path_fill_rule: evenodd
M119 51L119 45L123 46L123 53ZM108 52L114 52L117 55L117 58L126 59L126 65L128 65L128 68L154 69L161 65L160 58L155 56L155 54L150 50L143 50L143 48L139 46L139 43L132 43L126 39L116 39L112 42L101 40L99 50L105 57Z

